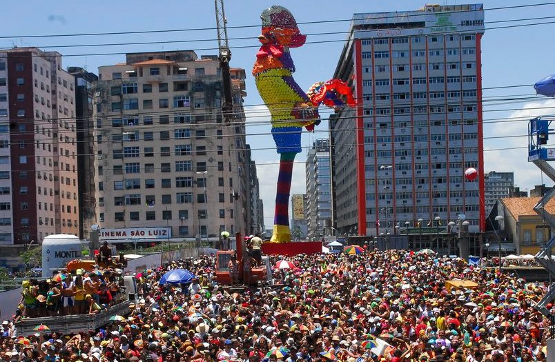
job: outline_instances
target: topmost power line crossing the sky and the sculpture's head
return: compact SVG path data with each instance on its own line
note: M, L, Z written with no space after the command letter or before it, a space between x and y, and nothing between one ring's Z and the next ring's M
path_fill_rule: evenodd
M460 12L477 12L477 11L494 11L494 10L508 10L508 9L518 9L518 8L532 8L536 6L550 6L555 5L555 2L548 2L548 3L532 3L532 4L522 4L517 6L500 6L498 8L482 8L476 10L454 10L454 11L444 11L440 12L441 14L446 13L460 13ZM409 10L408 12L413 12L418 10ZM411 14L413 17L419 16L427 16L429 12L422 12L422 14ZM394 17L394 16L392 16ZM402 14L399 14L398 17L402 17ZM391 19L391 17L376 17L373 18L375 20L380 19ZM303 24L320 24L320 23L338 23L338 22L351 22L357 20L364 20L364 19L333 19L333 20L322 20L322 21L304 21L298 22L298 25ZM260 24L256 25L247 25L247 26L227 26L229 29L241 29L241 28L260 28ZM164 29L164 30L138 30L138 31L128 31L128 32L90 32L90 33L77 33L77 34L31 34L31 35L3 35L0 36L0 39L26 39L26 38L52 38L52 37L91 37L91 36L101 36L101 35L125 35L125 34L149 34L149 33L160 33L160 32L192 32L192 31L204 31L210 30L214 31L216 28L207 27L207 28L184 28L184 29Z

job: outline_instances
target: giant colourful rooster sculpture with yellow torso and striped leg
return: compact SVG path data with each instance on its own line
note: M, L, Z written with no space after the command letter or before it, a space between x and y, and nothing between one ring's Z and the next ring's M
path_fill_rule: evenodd
M318 105L330 107L355 105L349 86L338 79L315 83L306 94L293 79L295 66L289 48L304 45L306 35L300 33L293 14L282 6L271 6L262 12L262 46L253 67L256 87L271 114L272 136L280 154L277 177L275 216L271 242L291 241L289 229L289 194L295 155L301 152L302 128L313 131L320 123Z

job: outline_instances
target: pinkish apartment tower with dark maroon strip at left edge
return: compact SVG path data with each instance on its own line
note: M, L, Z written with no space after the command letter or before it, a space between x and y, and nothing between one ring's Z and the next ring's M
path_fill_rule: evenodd
M0 52L0 243L79 232L75 86L61 54Z

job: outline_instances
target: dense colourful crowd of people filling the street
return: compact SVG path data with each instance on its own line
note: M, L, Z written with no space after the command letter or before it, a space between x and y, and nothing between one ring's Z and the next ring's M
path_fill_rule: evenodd
M280 257L272 257L273 264ZM407 250L300 254L273 284L229 290L214 257L137 274L125 318L80 334L20 336L2 323L2 361L545 361L545 283ZM168 270L191 283L159 284ZM473 289L448 290L451 279ZM102 312L101 312L102 313Z

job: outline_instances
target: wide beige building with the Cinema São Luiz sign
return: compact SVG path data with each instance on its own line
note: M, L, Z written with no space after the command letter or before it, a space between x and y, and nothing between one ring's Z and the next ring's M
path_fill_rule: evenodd
M217 57L144 52L99 68L95 181L101 239L217 239L245 232L244 70L222 120ZM165 232L164 230L169 230ZM134 238L134 239L133 239Z

